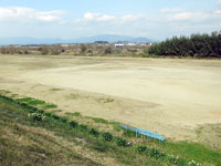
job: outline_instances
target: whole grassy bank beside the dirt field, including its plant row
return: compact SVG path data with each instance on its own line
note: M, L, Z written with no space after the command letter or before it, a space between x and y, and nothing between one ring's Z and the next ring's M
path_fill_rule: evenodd
M40 108L36 107L39 105ZM104 156L115 165L179 165L219 166L221 155L200 144L156 142L128 144L133 133L117 137L71 118L44 111L48 103L30 97L12 100L0 96L0 162L3 165L99 165ZM81 116L80 113L73 116ZM93 118L103 125L116 125L102 118ZM65 144L63 144L65 143ZM72 146L71 146L72 145ZM76 148L77 146L77 148ZM78 154L78 148L82 152ZM93 154L88 157L88 154ZM172 155L171 155L172 154ZM24 157L27 156L27 157ZM60 158L60 159L57 159ZM197 160L196 163L191 160ZM55 162L53 162L55 160Z

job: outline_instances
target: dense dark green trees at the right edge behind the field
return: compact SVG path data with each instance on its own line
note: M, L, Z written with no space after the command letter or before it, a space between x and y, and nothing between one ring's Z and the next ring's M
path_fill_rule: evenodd
M165 56L221 58L221 31L173 37L151 45L148 53Z

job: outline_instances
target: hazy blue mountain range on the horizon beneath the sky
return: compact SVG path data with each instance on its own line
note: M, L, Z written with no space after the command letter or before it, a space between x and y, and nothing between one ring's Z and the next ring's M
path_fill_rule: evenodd
M92 43L95 41L107 41L107 42L119 42L119 41L127 41L127 42L157 42L157 40L148 39L148 38L134 38L127 35L116 35L116 34L104 34L104 35L95 35L95 37L87 37L87 38L78 38L78 39L71 39L71 40L63 40L59 38L0 38L0 45L10 45L10 44L57 44L57 43Z

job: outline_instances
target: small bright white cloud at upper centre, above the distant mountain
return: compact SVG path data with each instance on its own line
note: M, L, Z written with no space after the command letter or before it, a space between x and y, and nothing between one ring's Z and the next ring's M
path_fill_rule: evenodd
M84 19L87 21L112 21L115 20L115 15L108 15L108 14L101 14L101 13L91 13L86 12L84 14Z

